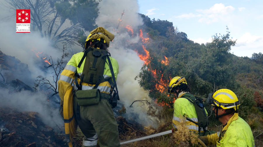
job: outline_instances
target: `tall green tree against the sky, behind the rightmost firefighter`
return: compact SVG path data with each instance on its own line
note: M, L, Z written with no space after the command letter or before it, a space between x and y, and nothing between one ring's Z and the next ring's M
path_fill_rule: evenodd
M193 67L200 78L213 85L215 83L219 87L237 86L231 65L233 55L229 53L231 46L234 46L236 41L229 37L228 28L226 35L214 35L212 42L206 44L200 62Z

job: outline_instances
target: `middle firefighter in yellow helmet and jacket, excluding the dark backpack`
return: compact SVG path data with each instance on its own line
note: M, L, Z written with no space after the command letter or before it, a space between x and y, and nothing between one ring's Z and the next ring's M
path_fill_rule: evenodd
M198 116L193 104L195 96L190 94L190 92L191 87L187 84L184 77L176 76L169 82L168 94L174 93L174 96L177 97L174 101L173 128L177 130L176 125L179 124L180 118L186 117L186 125L188 125L189 130L198 132L199 135L205 135L207 127L202 128L196 124L198 123ZM207 111L205 109L204 111L207 119Z

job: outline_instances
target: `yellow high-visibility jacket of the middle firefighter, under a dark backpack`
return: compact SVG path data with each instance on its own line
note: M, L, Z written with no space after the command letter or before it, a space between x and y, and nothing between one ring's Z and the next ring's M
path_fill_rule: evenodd
M180 118L188 117L194 122L198 122L195 106L193 103L189 102L188 99L183 98L186 93L189 92L179 93L178 98L174 101L173 128L175 129L177 128L176 125L178 125L180 122ZM206 110L205 112L206 115L208 115ZM188 126L189 130L198 132L198 126L195 123L186 120L186 125ZM201 128L200 132L204 132L203 128Z

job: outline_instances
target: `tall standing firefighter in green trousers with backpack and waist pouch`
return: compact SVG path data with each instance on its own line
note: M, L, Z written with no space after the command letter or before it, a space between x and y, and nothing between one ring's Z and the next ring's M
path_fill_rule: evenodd
M105 56L113 38L114 35L103 27L91 31L85 42L85 51L72 56L58 81L61 110L66 91L73 85L74 115L85 136L82 144L84 147L96 147L98 139L101 147L120 146L118 126L112 110L112 95L115 93L114 87L117 89L115 79L119 64L114 58ZM105 64L97 65L101 62ZM92 64L89 65L90 63ZM98 72L94 73L96 70ZM90 74L91 72L93 73ZM94 81L96 78L98 80ZM85 93L86 91L92 92ZM117 100L115 102L117 104ZM63 112L60 113L63 116Z

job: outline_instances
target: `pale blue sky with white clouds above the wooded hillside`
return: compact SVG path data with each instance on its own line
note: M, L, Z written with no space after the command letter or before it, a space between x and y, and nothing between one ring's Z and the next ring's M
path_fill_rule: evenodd
M263 52L263 1L262 0L138 0L139 13L173 22L188 39L197 43L212 41L217 33L236 40L230 53L251 57Z

